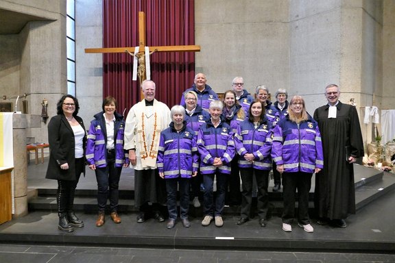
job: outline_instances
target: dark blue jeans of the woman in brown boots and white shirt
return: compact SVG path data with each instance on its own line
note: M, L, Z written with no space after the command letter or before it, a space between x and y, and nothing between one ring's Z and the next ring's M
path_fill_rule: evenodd
M115 156L108 155L107 166L95 170L97 180L97 205L99 211L106 210L107 199L110 199L111 212L117 212L119 201L119 178L121 177L121 167L115 167Z

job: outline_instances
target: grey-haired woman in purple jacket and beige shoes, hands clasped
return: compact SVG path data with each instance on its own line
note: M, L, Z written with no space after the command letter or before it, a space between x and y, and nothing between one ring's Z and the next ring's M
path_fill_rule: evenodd
M215 218L215 226L222 227L222 210L225 204L226 181L230 175L230 162L235 157L233 132L228 124L221 121L224 105L222 101L211 101L211 118L200 126L197 134L197 149L200 153L200 173L204 184L203 226L210 225ZM214 201L214 177L217 181L217 195Z

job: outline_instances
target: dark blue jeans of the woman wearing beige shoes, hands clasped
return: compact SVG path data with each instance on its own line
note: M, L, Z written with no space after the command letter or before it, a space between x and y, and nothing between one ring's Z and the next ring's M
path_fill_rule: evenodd
M216 175L217 180L217 195L214 201L214 176ZM227 186L228 175L225 173L211 173L203 175L204 184L204 215L206 216L221 216L222 210L225 205L225 193Z

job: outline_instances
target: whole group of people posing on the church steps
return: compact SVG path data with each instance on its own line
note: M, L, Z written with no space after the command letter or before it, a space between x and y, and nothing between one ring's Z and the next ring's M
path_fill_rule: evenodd
M105 223L108 199L111 220L121 223L118 185L121 169L127 166L134 168L138 223L147 218L165 221L163 205L167 205L166 227L172 229L178 218L179 192L181 222L190 227L190 200L200 207L203 190L203 226L212 221L217 227L224 225L226 202L241 205L237 225L243 225L252 217L256 191L259 225L265 227L273 169L273 191L283 186L284 231L292 231L296 217L304 231L313 232L309 218L313 173L318 224L346 227L344 219L355 213L352 163L363 155L355 107L339 101L336 85L325 88L328 104L313 116L307 113L302 97L287 101L285 89L276 92L272 103L265 86L256 87L255 99L243 85L243 78L235 77L221 101L206 84L206 76L198 73L180 105L170 110L155 99L155 83L145 80L141 86L144 99L132 106L125 121L116 112L117 101L106 97L87 134L77 116L77 99L64 95L57 105L58 115L48 125L47 178L58 180L58 228L70 232L84 226L73 211L73 199L85 161L97 177L97 227Z

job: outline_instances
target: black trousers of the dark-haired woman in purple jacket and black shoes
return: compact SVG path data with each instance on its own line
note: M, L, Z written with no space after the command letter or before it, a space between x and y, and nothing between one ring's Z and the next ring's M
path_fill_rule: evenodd
M240 168L241 181L243 192L241 192L241 217L249 218L252 203L252 185L254 176L256 179L256 186L258 192L256 193L256 208L259 218L267 218L267 210L269 206L269 195L267 193L267 186L269 185L269 171L258 170L252 167Z

